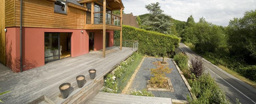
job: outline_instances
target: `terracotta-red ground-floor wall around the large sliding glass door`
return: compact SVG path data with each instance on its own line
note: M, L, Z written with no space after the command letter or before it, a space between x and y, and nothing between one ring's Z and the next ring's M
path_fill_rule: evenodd
M80 29L50 29L23 27L22 57L23 71L44 65L44 32L71 32L71 57L89 53L89 35ZM19 72L20 28L8 28L6 33L7 66L14 72ZM10 51L8 51L10 50Z

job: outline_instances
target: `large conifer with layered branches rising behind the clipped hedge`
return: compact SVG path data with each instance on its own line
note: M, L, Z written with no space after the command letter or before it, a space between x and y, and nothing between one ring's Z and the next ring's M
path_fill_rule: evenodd
M161 14L161 6L159 3L151 3L146 5L145 8L150 12L150 14L143 18L141 28L151 31L158 31L163 34L171 34L171 16Z

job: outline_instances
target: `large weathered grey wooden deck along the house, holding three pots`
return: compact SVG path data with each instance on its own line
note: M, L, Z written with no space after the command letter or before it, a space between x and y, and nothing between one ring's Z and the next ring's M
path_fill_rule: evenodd
M133 48L122 47L122 50L119 48L116 46L106 48L105 58L102 57L102 51L92 51L85 55L50 62L22 73L13 73L7 67L0 66L0 88L2 88L0 92L11 90L10 93L1 95L0 99L6 104L45 103L45 101L35 101L41 99L43 95L55 103L76 103L78 102L74 100L76 97L84 100L81 96L84 97L85 94L79 95L81 92L93 93L93 87L90 86L98 86L97 83L103 86L103 76L134 52ZM89 69L97 70L95 80L90 80ZM78 75L84 75L87 81L83 88L77 87L75 77ZM65 82L71 83L71 91L67 99L62 99L59 97L59 85Z

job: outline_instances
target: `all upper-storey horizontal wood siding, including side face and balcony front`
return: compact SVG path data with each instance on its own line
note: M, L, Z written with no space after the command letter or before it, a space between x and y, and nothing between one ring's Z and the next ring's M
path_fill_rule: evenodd
M5 1L5 27L20 26L20 0ZM71 6L73 5L73 6ZM81 7L83 8L83 7ZM54 2L49 0L23 0L22 27L59 28L59 29L103 29L102 25L88 24L90 12L67 6L67 14L54 12ZM87 18L86 18L87 16ZM87 21L87 24L86 24ZM96 26L96 27L95 27ZM119 26L107 25L107 30L120 30Z

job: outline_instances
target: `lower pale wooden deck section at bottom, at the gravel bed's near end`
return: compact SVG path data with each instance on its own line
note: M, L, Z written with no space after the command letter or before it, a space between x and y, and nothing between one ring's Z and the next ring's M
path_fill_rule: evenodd
M172 99L99 92L89 104L172 104Z

